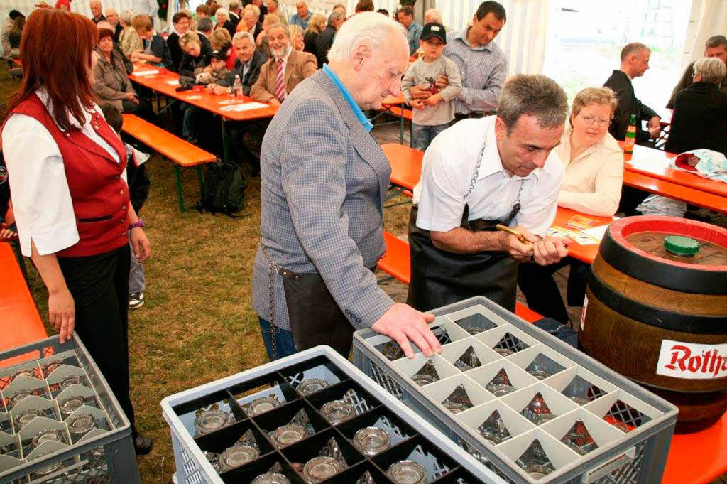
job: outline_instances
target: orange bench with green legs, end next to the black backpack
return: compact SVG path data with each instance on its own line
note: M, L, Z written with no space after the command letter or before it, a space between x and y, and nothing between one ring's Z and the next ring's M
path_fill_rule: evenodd
M121 131L153 148L163 154L174 163L174 178L177 181L177 198L179 199L180 211L186 210L184 206L184 194L182 192L182 176L180 168L195 168L199 178L199 191L202 191L202 166L214 162L217 156L204 151L192 143L188 143L172 133L161 129L148 121L141 119L134 114L124 114L124 126Z

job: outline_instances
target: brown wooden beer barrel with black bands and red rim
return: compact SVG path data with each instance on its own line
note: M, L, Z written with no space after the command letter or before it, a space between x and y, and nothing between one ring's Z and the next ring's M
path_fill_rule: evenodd
M691 247L665 244L672 235ZM670 252L681 249L698 252ZM611 223L586 298L584 349L677 405L678 431L727 410L727 230L662 216Z

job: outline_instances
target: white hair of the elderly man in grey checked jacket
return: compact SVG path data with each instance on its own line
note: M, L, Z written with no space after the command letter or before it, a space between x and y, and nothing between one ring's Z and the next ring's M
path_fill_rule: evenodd
M379 49L390 46L396 41L409 52L406 31L401 23L377 12L361 12L341 25L328 52L328 58L338 62L349 62L361 45L369 46L371 55L375 55Z

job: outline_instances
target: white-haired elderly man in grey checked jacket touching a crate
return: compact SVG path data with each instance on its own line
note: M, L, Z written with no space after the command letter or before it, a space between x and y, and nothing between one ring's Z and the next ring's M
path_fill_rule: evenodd
M301 82L262 141L260 247L253 307L271 360L329 344L348 357L372 328L413 357L441 346L430 314L395 304L373 269L385 250L390 164L363 110L398 95L409 48L401 25L361 13L337 33L324 66Z

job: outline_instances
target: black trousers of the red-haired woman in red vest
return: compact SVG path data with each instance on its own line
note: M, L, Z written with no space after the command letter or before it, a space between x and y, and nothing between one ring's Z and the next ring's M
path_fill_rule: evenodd
M132 426L129 397L129 245L89 257L59 257L76 303L76 333L111 386Z

